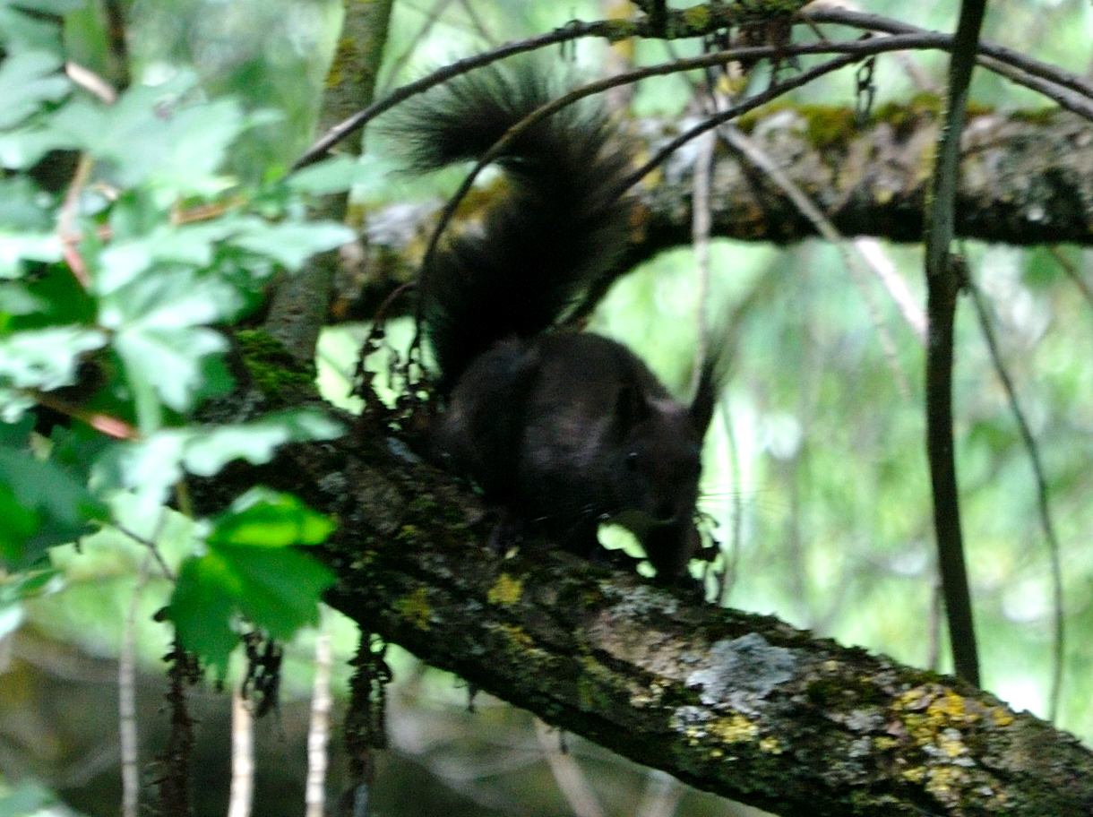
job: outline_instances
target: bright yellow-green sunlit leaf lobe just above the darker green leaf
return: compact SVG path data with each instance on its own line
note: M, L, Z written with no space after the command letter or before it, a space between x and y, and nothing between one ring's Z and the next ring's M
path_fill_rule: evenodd
M329 517L292 494L251 488L213 520L210 544L285 547L317 545L334 530Z

